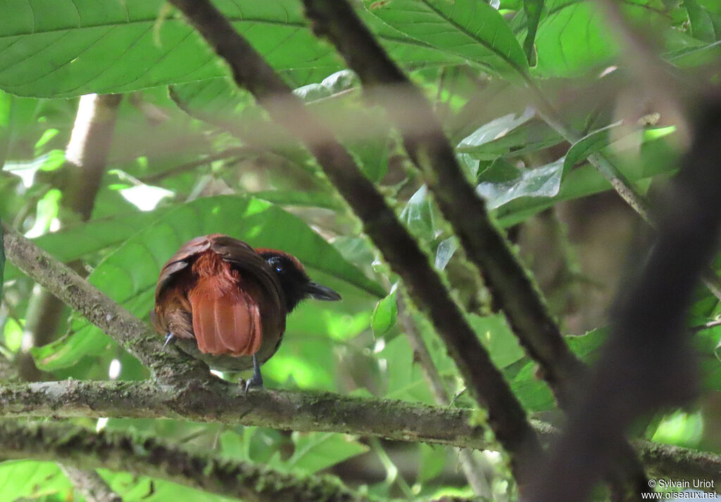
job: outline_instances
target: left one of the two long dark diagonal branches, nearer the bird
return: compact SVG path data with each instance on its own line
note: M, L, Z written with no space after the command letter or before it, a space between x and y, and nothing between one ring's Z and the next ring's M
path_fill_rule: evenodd
M236 84L251 91L270 116L296 135L317 158L338 192L363 221L368 236L393 271L402 277L412 300L433 322L474 398L487 405L490 426L511 454L518 478L526 478L523 467L540 451L536 434L521 404L493 366L415 239L331 131L306 110L290 87L218 9L208 0L171 0L171 3L226 60Z

